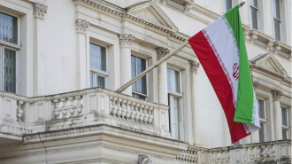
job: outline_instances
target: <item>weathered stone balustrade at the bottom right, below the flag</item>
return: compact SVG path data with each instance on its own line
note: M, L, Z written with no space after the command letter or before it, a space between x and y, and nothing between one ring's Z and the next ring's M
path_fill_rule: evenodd
M288 164L291 163L291 140L241 144L213 149L189 146L178 154L178 163L205 164Z

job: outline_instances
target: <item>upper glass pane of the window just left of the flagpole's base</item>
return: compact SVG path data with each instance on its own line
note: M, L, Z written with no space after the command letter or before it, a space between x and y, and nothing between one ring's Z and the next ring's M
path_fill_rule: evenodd
M105 48L90 43L89 45L90 67L106 71L106 52Z

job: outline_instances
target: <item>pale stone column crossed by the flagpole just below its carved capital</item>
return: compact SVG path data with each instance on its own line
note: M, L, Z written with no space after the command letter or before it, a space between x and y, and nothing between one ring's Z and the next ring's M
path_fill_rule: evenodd
M162 59L169 52L168 49L162 47L158 47L156 51L158 55L158 60ZM158 66L158 102L163 105L168 105L166 62Z

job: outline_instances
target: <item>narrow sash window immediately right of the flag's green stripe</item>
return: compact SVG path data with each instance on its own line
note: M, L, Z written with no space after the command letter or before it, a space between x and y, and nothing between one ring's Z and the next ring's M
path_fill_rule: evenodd
M258 116L260 121L260 127L261 129L258 130L259 135L259 142L263 143L265 142L265 126L266 126L266 120L265 120L265 101L262 99L257 99L257 106L258 106Z

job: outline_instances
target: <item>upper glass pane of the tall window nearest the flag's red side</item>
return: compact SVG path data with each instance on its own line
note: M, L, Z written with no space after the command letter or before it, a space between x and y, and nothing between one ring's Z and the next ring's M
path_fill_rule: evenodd
M180 73L173 69L167 68L167 88L180 93Z

